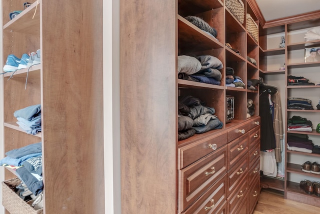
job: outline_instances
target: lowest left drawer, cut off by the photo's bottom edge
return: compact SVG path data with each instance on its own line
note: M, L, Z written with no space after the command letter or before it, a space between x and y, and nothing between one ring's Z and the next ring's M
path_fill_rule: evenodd
M197 199L183 214L218 213L222 204L226 208L226 174L216 181L199 199ZM223 212L222 212L223 213ZM226 212L224 212L226 213Z

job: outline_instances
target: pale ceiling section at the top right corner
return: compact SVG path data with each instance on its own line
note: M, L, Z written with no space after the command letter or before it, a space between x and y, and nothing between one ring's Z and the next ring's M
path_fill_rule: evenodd
M265 21L320 10L320 0L255 0Z

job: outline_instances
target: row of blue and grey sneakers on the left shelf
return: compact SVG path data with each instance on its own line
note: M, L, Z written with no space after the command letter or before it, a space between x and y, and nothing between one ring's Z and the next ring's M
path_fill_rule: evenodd
M39 63L40 49L36 50L36 52L31 52L29 54L23 53L21 58L18 58L14 54L9 54L6 58L5 65L3 66L3 71L12 72Z

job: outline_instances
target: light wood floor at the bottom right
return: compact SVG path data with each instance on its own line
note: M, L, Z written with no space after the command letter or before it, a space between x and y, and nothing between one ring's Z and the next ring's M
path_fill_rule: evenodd
M319 198L320 203L320 198ZM311 214L320 213L320 207L284 199L280 192L262 189L253 214Z

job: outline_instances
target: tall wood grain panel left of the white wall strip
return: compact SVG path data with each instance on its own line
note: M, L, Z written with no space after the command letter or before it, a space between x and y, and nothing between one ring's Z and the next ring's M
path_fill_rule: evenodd
M45 212L104 213L102 0L40 12Z

